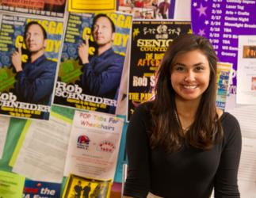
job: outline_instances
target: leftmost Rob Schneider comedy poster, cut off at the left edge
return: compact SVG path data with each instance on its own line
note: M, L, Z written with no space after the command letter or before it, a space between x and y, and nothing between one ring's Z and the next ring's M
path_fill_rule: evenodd
M48 120L63 23L3 14L0 114Z

